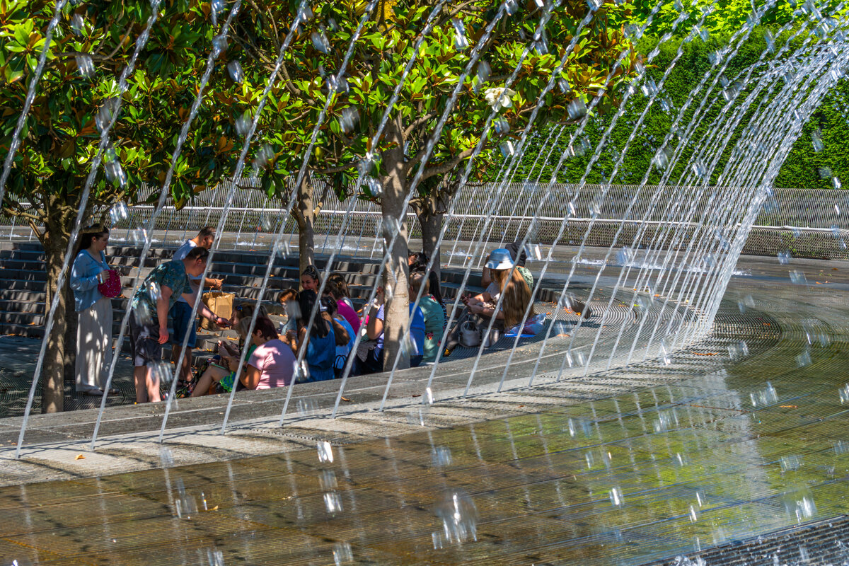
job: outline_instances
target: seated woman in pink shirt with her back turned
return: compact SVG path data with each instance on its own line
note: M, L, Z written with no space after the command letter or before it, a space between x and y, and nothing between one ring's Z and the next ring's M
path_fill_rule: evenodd
M241 376L245 389L271 389L292 383L295 354L278 338L274 323L266 317L257 317L250 339L256 350Z

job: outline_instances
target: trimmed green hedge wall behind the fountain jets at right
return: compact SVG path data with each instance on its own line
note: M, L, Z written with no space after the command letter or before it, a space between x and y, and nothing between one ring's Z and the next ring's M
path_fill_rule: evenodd
M724 72L724 76L728 81L734 81L738 77L745 74L752 64L756 64L757 60L765 48L767 41L764 38L766 31L777 34L777 26L758 27L751 32L751 36L739 48L737 55L728 64L728 69ZM775 45L780 47L789 36L785 32L783 36L775 37ZM797 40L798 44L801 40ZM644 110L648 98L644 92L638 90L635 92L631 100L627 103L626 111L619 117L616 127L612 130L606 149L600 159L593 165L590 171L587 182L616 182L616 183L638 183L642 181L645 171L649 168L651 160L655 156L656 148L661 146L667 132L670 131L673 121L678 116L678 111L683 107L683 104L689 96L694 92L700 81L710 73L713 67L711 63L711 54L715 53L718 48L728 43L728 36L721 34L713 34L706 42L696 39L692 42L683 42L683 38L673 38L660 46L660 53L653 61L653 66L649 68L649 77L656 83L661 81L666 69L672 63L678 52L679 46L682 47L683 55L678 60L678 63L672 69L670 76L666 79L666 83L661 90L655 104L649 109L648 114L644 119L643 126L640 127L635 134L632 142L628 146L627 155L616 174L616 177L610 179L613 165L616 157L625 148L628 137L635 131L635 125L639 115ZM638 48L641 53L649 53L657 47L658 39L654 36L644 37L639 43ZM757 76L757 72L753 77ZM712 76L712 73L711 73ZM710 81L709 81L710 82ZM741 93L738 101L745 98L745 94L749 92L752 84L755 82L753 78L751 84L739 84ZM779 80L776 85L776 92L779 92L783 87L784 82ZM689 124L689 118L692 116L693 110L702 98L704 97L704 89L694 99L694 104L691 104L687 119L682 120L681 126L686 127ZM661 100L663 101L661 103ZM844 148L844 143L849 140L849 85L846 81L841 81L840 87L835 91L830 92L824 100L824 104L816 111L805 126L801 137L794 144L787 160L785 160L779 176L774 184L777 187L798 187L798 188L833 188L833 178L841 180L849 186L849 152ZM711 130L711 127L717 116L722 111L725 100L722 98L722 89L714 90L711 94L711 103L707 105L706 117L701 121L700 126L695 130L690 138L689 148L685 150L684 155L689 157L694 150L694 146L698 144L700 138ZM753 107L756 104L753 105ZM611 111L608 115L593 117L583 134L588 143L587 147L590 151L598 146L604 132L610 126L616 111ZM745 120L744 120L745 121ZM537 131L536 136L531 139L528 150L522 163L516 171L515 180L533 180L541 177L543 181L548 181L552 177L554 164L559 158L559 153L565 148L565 139L568 139L568 132L575 132L576 126L567 126L566 132L560 141L560 149L555 150L553 158L548 160L547 165L543 165L545 154L538 160L537 165L534 161L537 160L537 154L540 152L548 152L554 138L547 141L548 134L552 128L559 126L545 126ZM722 165L728 160L728 155L734 147L734 142L739 137L740 128L737 132L733 132L731 141L728 143L722 160L719 162L716 171L722 171ZM820 133L821 132L821 133ZM723 136L724 137L724 136ZM819 137L822 141L822 149L816 151L814 148L813 137ZM580 138L579 138L580 139ZM673 138L672 145L678 143L678 139ZM576 145L580 153L580 144ZM557 175L559 182L578 182L584 175L584 171L588 165L589 154L576 155L568 160L565 160L564 166ZM686 163L688 160L679 160L679 163ZM673 172L670 177L670 183L678 182L678 179L683 174L683 165L678 165L678 169ZM649 175L648 182L655 183L661 178L661 174L655 168ZM710 182L716 182L717 174L715 174Z

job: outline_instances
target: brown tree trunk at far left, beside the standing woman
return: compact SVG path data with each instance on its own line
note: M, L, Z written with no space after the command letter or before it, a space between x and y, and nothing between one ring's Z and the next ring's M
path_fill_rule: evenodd
M52 215L48 214L48 217ZM61 217L62 215L56 215ZM65 331L67 321L67 275L63 289L57 289L56 281L65 260L70 235L62 222L49 222L44 230L44 259L47 267L48 282L46 285L47 302L44 307L44 320L47 323L50 305L58 293L59 302L53 313L53 328L48 336L48 347L44 353L42 367L42 412L61 412L65 401ZM70 347L70 345L69 345Z

